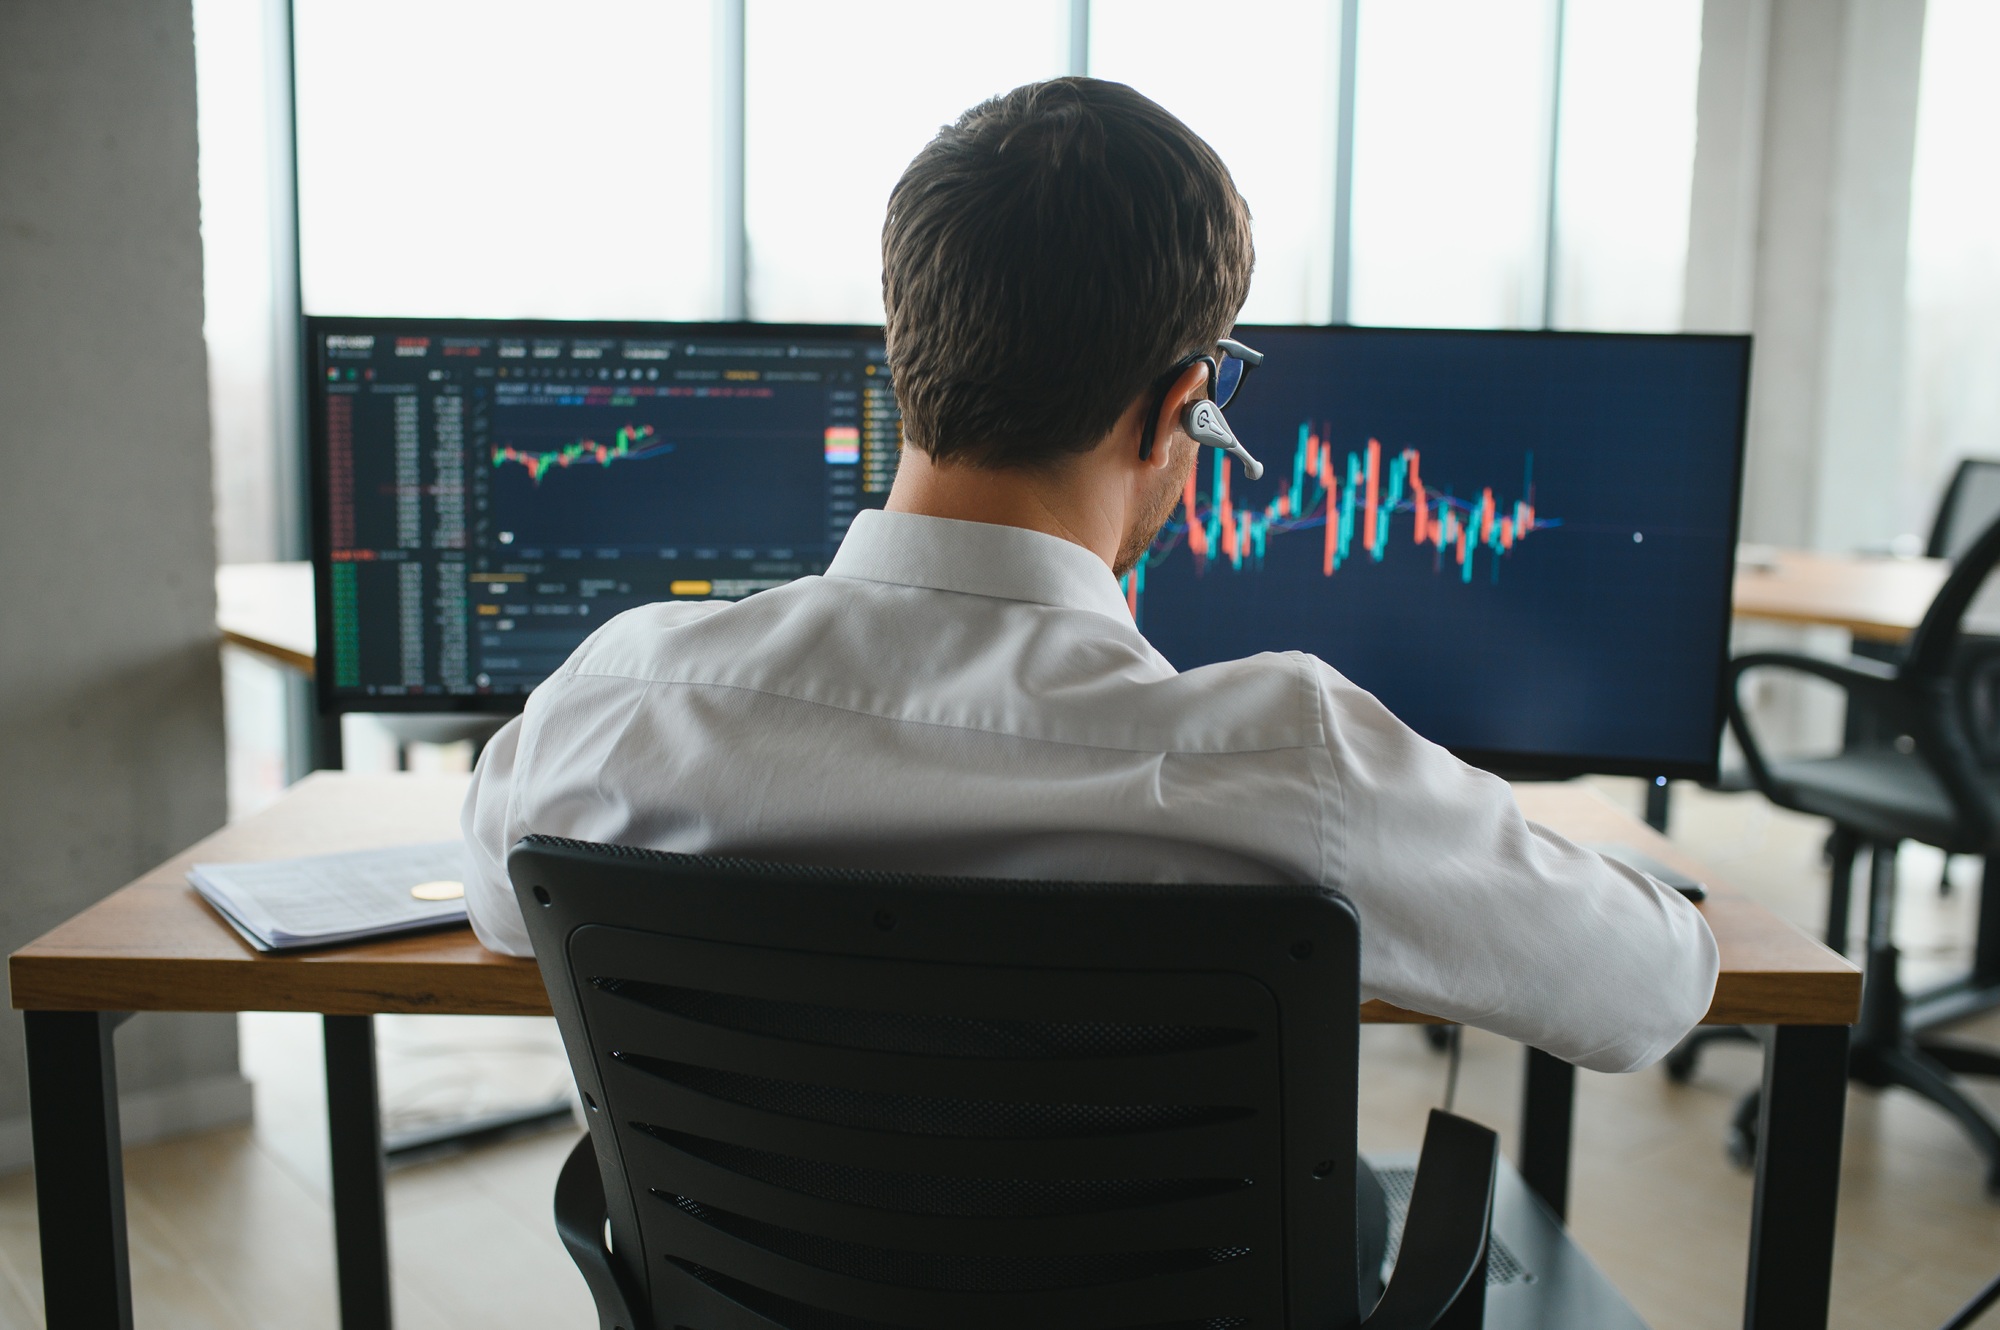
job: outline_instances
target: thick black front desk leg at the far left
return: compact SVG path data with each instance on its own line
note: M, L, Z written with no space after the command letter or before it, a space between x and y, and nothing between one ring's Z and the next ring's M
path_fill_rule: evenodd
M128 1012L24 1012L48 1330L132 1330L112 1030Z

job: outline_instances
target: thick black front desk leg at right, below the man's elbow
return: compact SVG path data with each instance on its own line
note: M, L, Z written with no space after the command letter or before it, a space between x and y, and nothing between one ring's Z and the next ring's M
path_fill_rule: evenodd
M1744 1330L1824 1330L1834 1278L1848 1028L1766 1026Z

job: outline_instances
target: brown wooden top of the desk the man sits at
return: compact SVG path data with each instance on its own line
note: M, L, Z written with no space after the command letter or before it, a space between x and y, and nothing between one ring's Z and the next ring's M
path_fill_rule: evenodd
M276 804L160 864L10 958L20 1010L548 1014L530 960L496 956L470 928L288 956L252 950L186 882L196 860L288 858L454 834L464 776L322 772ZM1536 822L1584 842L1624 842L1710 884L1702 906L1722 948L1708 1018L1728 1024L1846 1024L1860 972L1770 910L1706 876L1596 792L1516 786ZM1426 1020L1382 1002L1366 1020Z

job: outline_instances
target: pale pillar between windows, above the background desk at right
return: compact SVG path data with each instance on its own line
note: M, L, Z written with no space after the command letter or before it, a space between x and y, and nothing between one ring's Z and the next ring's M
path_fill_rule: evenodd
M1924 0L1706 0L1684 326L1754 332L1744 540L1896 534Z

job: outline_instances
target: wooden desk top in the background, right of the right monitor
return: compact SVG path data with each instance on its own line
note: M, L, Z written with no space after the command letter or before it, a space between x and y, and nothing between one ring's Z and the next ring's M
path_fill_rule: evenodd
M1846 628L1870 642L1908 640L1950 574L1942 558L1750 548L1744 554L1750 558L1736 564L1738 618Z

